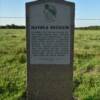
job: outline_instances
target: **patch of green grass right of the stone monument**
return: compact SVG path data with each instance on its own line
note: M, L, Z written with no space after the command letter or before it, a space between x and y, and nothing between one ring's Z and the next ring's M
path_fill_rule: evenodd
M100 100L100 30L75 32L74 95Z

